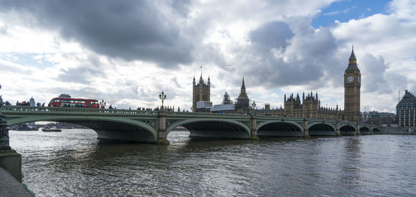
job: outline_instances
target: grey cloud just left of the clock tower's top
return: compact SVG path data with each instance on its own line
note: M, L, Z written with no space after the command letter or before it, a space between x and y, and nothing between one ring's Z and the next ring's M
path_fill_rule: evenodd
M298 23L297 29L311 28L309 24ZM296 29L294 28L294 29ZM336 71L342 75L343 66L334 57L337 51L336 39L329 29L302 31L296 34L288 24L275 21L265 24L250 33L253 47L241 53L245 74L255 86L279 88L287 85L322 86L328 73ZM333 71L325 68L338 63Z

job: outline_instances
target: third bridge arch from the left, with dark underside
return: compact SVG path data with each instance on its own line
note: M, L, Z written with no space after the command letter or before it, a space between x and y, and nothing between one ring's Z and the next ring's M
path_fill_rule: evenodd
M269 120L257 124L257 136L302 137L304 129L293 121Z

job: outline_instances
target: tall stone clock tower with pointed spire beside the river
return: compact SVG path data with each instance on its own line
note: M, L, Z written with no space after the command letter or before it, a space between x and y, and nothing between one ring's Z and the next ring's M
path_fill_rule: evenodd
M361 72L354 55L354 46L349 64L344 73L344 118L350 122L360 122Z

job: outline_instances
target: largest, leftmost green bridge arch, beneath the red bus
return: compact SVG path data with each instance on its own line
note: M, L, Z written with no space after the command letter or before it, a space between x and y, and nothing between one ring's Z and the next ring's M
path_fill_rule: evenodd
M34 115L26 117L7 118L9 126L27 122L50 121L67 122L87 126L96 131L98 139L123 140L131 142L155 142L157 131L156 120L134 120L108 116L78 116L78 115ZM153 122L153 125L152 125Z

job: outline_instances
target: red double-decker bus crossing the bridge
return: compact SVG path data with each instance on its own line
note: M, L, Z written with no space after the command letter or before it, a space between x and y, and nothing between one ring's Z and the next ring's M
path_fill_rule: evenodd
M70 95L65 94L54 97L51 102L49 102L48 106L100 108L98 100L71 98Z

